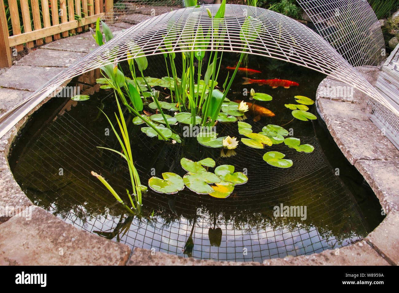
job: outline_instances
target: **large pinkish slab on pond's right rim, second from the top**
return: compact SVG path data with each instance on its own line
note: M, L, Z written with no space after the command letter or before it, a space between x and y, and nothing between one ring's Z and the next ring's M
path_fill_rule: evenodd
M352 165L357 160L399 160L399 150L362 115L356 104L317 99L320 116Z

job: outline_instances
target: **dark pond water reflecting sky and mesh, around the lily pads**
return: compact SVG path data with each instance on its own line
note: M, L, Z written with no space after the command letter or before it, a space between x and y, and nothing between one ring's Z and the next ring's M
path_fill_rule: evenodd
M146 75L162 77L163 58L149 59ZM219 84L234 66L237 55L223 55ZM246 100L243 88L273 96L269 102L256 103L275 113L255 122L254 132L267 124L292 129L301 144L314 146L312 153L297 152L284 144L254 149L241 144L233 157L220 157L220 149L204 147L196 138L182 144L149 138L140 131L143 125L128 124L135 166L141 183L163 172L183 176L180 159L198 161L211 157L216 165L231 164L235 171L247 173L249 181L237 185L226 199L198 195L187 188L174 195L152 190L143 196L142 217L125 213L122 206L90 172L101 173L120 195L130 183L126 162L104 146L119 149L112 130L99 109L115 122L113 91L99 89L95 79L99 70L75 78L81 94L91 98L75 102L53 98L28 121L16 138L9 157L16 181L35 205L91 233L117 242L156 252L219 261L256 261L284 258L336 249L364 238L382 220L381 206L358 171L348 163L318 116L314 121L293 120L284 104L295 103L294 96L314 100L324 75L282 61L249 56L244 66L262 71L249 76L256 79L288 79L299 83L290 88L272 89L267 85L242 85L237 74L230 100ZM231 74L231 73L230 73ZM166 92L164 89L160 89ZM162 94L161 94L162 95ZM253 102L253 101L251 101ZM309 106L316 114L315 105ZM148 109L147 109L148 110ZM173 116L173 113L170 112ZM317 114L316 114L317 115ZM126 114L126 119L131 118ZM237 123L217 124L219 136L242 138ZM106 129L110 134L106 135ZM263 161L267 151L280 151L294 165L283 169ZM127 196L123 199L128 202ZM275 216L275 206L306 206L306 215ZM153 216L151 216L153 213ZM194 246L186 250L186 242Z

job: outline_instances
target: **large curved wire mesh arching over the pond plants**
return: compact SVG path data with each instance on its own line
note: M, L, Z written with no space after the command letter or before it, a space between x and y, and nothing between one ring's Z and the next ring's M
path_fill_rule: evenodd
M398 116L398 110L312 29L271 10L234 4L226 5L224 18L212 20L209 14L214 17L219 6L183 8L126 29L38 89L32 95L31 103L25 105L26 111L73 77L127 60L128 52L130 59L138 54L156 55L162 54L166 45L170 45L170 51L174 52L200 49L241 52L245 48L249 54L307 67L357 88ZM201 31L203 39L200 38ZM15 123L21 115L14 119Z

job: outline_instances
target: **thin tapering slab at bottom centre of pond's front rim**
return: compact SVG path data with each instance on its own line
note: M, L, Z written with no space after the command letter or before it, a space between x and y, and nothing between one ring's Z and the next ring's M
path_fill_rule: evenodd
M134 248L127 265L261 265L259 262L217 262L214 260L198 260L183 258L163 252Z

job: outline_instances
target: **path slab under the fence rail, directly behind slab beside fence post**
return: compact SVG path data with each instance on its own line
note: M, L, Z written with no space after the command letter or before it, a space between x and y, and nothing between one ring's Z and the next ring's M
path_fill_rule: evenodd
M91 35L90 35L91 37ZM73 52L82 52L82 53L90 53L98 45L93 39L93 37L85 38L80 35L75 35L73 37L67 37L65 39L59 39L57 41L52 41L51 43L45 44L42 46L42 49L51 49L51 50L59 50L59 51L73 51Z

